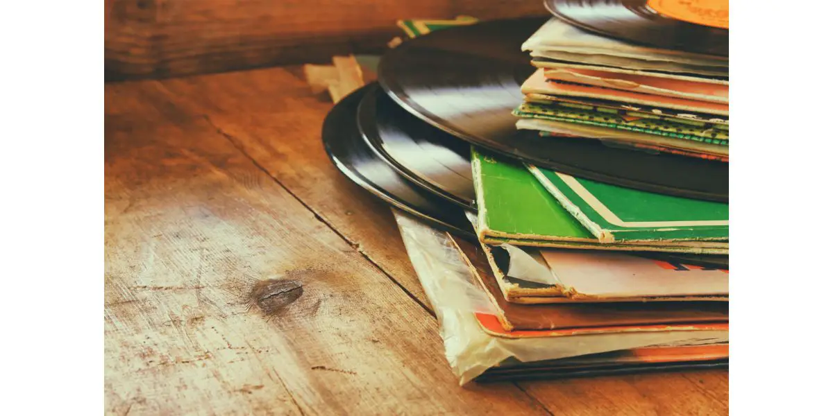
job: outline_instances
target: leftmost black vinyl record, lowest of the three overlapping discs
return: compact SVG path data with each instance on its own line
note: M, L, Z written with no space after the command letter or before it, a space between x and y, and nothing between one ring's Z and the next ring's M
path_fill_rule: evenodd
M362 96L371 89L362 87L344 97L324 119L322 140L333 164L351 181L388 204L442 230L473 238L474 230L460 207L407 181L364 141L356 116Z

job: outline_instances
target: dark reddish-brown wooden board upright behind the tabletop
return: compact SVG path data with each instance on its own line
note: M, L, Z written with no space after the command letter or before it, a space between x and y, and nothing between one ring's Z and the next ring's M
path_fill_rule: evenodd
M174 77L380 51L401 18L546 15L506 0L105 0L105 79Z

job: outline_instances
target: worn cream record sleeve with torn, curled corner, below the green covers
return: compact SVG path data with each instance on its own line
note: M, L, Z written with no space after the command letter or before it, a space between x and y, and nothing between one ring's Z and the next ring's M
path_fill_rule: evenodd
M481 249L511 303L729 300L729 270L719 265L681 263L659 253L482 243Z

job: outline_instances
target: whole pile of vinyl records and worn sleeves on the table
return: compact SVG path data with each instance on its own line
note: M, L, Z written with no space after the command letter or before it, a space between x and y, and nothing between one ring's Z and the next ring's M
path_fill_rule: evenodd
M701 3L466 20L327 116L461 383L728 365L728 2Z

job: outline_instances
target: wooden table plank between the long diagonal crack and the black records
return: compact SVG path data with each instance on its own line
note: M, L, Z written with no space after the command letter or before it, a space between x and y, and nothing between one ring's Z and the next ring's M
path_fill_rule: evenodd
M169 79L167 99L205 115L362 254L428 305L390 209L327 157L321 126L332 102L283 68Z

